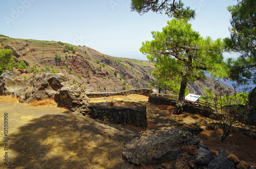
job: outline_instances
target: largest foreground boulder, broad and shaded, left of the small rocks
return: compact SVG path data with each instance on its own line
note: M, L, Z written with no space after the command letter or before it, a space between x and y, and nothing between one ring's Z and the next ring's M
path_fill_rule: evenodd
M133 139L124 146L123 156L135 164L151 164L161 160L177 159L181 147L188 142L201 140L188 131L177 128Z

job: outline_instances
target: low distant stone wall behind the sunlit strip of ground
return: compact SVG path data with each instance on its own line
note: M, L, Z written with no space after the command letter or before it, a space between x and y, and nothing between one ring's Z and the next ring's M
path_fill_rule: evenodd
M130 94L138 94L143 96L150 96L151 93L153 93L153 89L135 89L135 90L128 90L128 91L121 91L121 92L85 92L85 94L89 98L97 98L97 97L109 97L109 96L116 96L116 95L130 95Z

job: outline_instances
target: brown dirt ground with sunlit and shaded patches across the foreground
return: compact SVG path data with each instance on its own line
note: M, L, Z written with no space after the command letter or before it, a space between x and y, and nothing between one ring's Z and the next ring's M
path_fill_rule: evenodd
M141 95L91 98L90 102L132 101L147 107L150 127L201 127L208 119L184 112L173 115L172 106L157 106ZM2 101L1 101L2 100ZM123 146L137 137L141 128L119 125L83 117L78 112L59 108L54 103L30 106L3 101L0 97L0 168L140 168L122 157ZM8 114L8 134L4 135L4 115ZM233 134L225 142L214 130L198 134L210 149L223 148L256 165L256 140L243 134ZM2 141L8 137L7 145ZM4 139L5 140L5 139ZM8 151L4 150L8 147ZM4 155L8 152L8 165Z

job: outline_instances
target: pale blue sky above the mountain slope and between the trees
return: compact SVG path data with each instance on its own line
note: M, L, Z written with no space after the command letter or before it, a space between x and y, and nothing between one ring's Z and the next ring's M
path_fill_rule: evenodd
M196 10L192 28L212 39L229 36L233 0L183 0ZM161 31L166 15L131 12L131 0L0 0L0 34L86 45L114 57L147 60L139 48ZM232 55L225 55L230 57Z

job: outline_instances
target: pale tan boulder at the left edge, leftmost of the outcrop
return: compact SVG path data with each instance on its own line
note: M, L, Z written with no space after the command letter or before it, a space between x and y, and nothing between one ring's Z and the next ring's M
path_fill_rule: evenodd
M28 79L20 78L14 71L5 70L0 76L0 95L12 95L14 92L25 91L28 87Z

